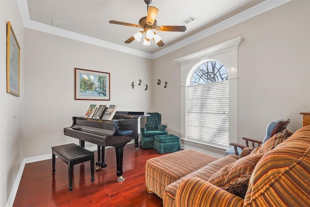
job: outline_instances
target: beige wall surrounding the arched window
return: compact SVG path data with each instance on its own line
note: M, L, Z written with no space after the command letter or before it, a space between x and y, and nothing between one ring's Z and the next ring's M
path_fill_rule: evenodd
M154 81L169 80L154 91L154 108L168 130L180 132L180 69L173 60L242 36L238 49L238 140L263 140L267 124L291 119L301 127L310 110L310 1L294 0L154 60Z

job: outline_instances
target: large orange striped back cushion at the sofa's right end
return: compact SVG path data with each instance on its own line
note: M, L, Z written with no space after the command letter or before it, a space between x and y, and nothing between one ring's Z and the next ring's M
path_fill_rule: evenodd
M310 126L267 152L249 180L244 206L310 204Z

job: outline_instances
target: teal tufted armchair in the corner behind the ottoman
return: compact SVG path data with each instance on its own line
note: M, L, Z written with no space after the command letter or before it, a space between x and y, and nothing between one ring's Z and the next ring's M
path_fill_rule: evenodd
M154 139L156 135L168 134L167 126L161 124L161 114L157 112L148 113L150 116L146 117L146 125L141 128L140 144L142 148L153 148Z

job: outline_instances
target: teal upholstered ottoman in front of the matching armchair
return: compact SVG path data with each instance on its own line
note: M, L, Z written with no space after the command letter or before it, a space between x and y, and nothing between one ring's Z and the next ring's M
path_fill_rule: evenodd
M180 151L180 138L173 134L156 135L153 148L157 150L159 154Z

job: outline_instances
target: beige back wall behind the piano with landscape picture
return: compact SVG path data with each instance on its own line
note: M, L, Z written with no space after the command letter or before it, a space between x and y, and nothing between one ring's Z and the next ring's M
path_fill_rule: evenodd
M78 139L64 136L63 128L71 126L72 116L85 115L90 104L117 104L119 111L149 111L152 90L145 91L143 84L150 83L151 63L127 53L25 29L23 158L49 154L54 145L78 143ZM110 101L75 100L75 67L109 72Z

